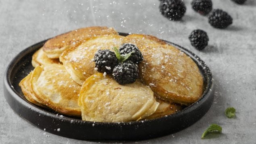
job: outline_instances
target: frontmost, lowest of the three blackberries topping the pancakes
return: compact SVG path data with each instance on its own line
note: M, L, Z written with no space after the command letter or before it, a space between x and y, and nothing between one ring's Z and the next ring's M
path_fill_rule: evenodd
M133 83L139 77L138 66L130 60L119 63L114 67L112 75L119 84Z

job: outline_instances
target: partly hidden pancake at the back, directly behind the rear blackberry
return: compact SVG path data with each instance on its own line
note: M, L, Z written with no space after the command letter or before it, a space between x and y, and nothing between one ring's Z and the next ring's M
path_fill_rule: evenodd
M142 35L142 34L131 34L127 35L123 39L123 43L132 43L136 45L139 49L140 47L145 47L147 45L152 44L159 44L159 45L165 45L166 43L157 37L154 37L152 35Z

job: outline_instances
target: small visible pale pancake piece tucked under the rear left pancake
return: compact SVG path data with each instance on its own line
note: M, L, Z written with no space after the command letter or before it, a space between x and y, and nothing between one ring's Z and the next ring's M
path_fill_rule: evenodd
M46 53L43 51L42 47L37 50L32 56L32 66L35 68L37 66L43 66L45 64L60 64L58 58L50 59L47 57Z

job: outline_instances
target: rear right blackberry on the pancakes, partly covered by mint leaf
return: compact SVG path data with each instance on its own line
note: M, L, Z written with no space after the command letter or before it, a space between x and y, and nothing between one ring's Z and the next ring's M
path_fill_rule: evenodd
M142 53L139 51L139 48L131 43L124 43L123 45L121 45L119 52L121 55L133 52L127 60L131 60L135 64L139 64L143 60L143 56Z

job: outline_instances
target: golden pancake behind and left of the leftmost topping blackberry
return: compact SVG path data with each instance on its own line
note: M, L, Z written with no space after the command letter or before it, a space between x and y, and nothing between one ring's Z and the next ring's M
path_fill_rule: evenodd
M79 45L66 49L60 56L60 61L77 84L82 85L86 78L97 72L94 70L94 54L98 49L119 47L123 36L107 35L93 37Z

